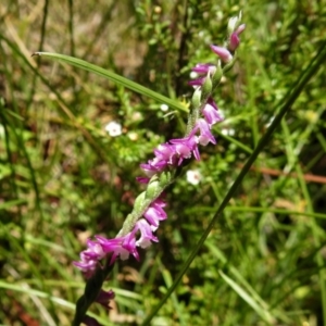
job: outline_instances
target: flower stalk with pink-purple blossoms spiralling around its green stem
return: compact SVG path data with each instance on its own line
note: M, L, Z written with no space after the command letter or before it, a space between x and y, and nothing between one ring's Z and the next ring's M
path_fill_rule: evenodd
M236 49L240 43L239 35L243 32L241 14L233 17L228 23L227 40L223 47L212 45L211 49L220 58L217 63L197 64L192 71L199 75L190 80L195 87L190 103L190 113L187 122L186 134L183 138L171 139L154 149L154 158L140 164L146 177L137 180L147 184L147 189L135 200L133 211L127 215L122 229L113 239L95 236L87 240L87 249L80 253L80 261L74 262L89 279L87 281L83 300L78 300L74 325L84 321L90 324L89 317L84 318L85 313L92 301L108 306L114 298L112 291L101 290L101 286L109 275L117 259L126 260L134 255L139 260L137 248L148 248L151 242L158 242L154 231L160 222L167 218L164 211L164 190L176 179L183 163L192 156L200 160L199 145L216 143L212 134L212 126L223 121L212 93L218 86L223 74L235 63ZM104 261L104 263L102 263ZM91 286L90 286L91 284ZM91 289L91 290L89 290ZM88 300L90 299L90 300Z

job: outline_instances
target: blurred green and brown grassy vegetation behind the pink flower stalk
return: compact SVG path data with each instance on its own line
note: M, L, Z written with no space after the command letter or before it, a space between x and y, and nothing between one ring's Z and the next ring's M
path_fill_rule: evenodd
M0 324L70 325L85 280L73 265L114 237L139 164L185 130L187 113L43 58L70 54L187 101L190 68L216 60L243 11L239 58L215 93L225 121L201 149L200 185L167 193L160 242L116 264L104 325L137 325L160 302L326 35L326 2L11 1L0 3ZM152 325L325 325L325 66L305 87ZM122 124L110 137L105 125ZM313 175L313 176L312 176ZM110 316L108 316L108 314ZM324 315L324 317L323 317Z

